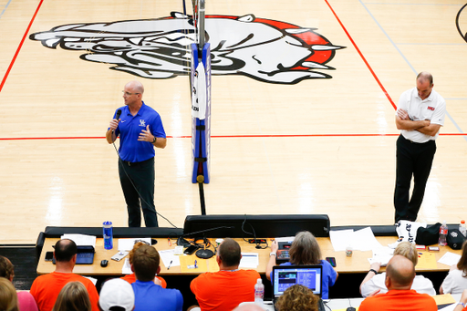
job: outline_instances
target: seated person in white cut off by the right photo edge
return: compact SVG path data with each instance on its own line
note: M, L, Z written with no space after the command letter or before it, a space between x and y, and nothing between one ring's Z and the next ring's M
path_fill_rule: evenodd
M459 263L453 264L442 281L440 294L462 294L467 289L467 241L462 244Z

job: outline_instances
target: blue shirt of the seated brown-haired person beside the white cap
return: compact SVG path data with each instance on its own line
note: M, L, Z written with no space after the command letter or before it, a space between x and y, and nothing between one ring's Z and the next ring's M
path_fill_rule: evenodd
M133 311L182 311L183 296L178 289L163 288L154 282L133 283L135 308Z

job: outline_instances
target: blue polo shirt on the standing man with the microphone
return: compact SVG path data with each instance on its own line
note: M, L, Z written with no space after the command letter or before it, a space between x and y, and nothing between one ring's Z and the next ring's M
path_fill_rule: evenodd
M144 102L134 117L131 115L128 106L123 106L119 109L121 109L121 115L119 127L115 130L115 135L120 137L119 155L121 160L140 162L154 158L156 152L152 143L150 141L140 141L138 137L141 130L146 130L146 127L149 125L152 135L166 138L159 113L146 106ZM114 118L117 115L117 110L113 115Z

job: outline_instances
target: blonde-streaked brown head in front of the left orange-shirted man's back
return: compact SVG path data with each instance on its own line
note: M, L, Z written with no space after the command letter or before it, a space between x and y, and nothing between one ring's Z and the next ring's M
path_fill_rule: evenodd
M52 311L91 311L88 290L81 282L70 282L58 294Z

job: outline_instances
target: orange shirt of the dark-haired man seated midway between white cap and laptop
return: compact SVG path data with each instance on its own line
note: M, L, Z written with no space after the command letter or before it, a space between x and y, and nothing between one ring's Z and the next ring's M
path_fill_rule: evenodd
M207 272L192 280L190 288L202 311L231 311L254 301L254 285L261 276L255 270Z

